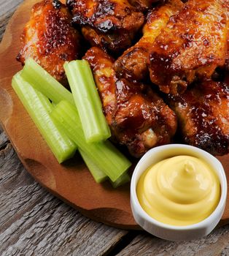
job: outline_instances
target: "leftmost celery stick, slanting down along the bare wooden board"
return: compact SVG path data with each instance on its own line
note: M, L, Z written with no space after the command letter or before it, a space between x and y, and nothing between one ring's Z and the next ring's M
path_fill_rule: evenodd
M61 163L72 157L77 146L63 132L62 127L56 126L50 118L53 105L49 99L23 80L20 73L12 78L12 87L58 162Z

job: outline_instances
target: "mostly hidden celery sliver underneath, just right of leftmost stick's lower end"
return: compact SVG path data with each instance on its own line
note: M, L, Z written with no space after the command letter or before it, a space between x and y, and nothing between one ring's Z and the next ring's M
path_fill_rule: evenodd
M90 170L90 173L95 181L97 183L105 181L107 178L106 174L100 170L98 166L93 161L91 161L90 157L88 157L88 155L80 148L79 153L81 154L82 159L85 161L85 164L88 166L88 169Z

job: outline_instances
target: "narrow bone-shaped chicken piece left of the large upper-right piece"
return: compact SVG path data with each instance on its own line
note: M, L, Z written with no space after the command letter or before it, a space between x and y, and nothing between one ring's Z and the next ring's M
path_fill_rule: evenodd
M166 26L169 18L182 10L183 5L180 0L169 0L167 4L156 7L148 13L143 37L115 61L115 71L119 77L141 81L149 76L147 60L152 43Z

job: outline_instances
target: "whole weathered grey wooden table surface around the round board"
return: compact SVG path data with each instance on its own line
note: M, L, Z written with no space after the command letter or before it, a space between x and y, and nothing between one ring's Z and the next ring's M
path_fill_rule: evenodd
M0 0L0 41L22 1ZM178 243L94 222L31 178L0 127L0 255L229 255L229 226Z

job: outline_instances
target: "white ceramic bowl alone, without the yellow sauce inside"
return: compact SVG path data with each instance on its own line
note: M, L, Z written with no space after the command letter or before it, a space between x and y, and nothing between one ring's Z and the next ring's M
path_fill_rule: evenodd
M147 170L147 167L160 162L162 159L175 157L178 155L189 155L203 159L203 161L206 161L209 163L209 165L211 165L220 179L221 197L217 208L215 208L209 217L193 225L174 226L158 222L158 220L150 217L143 210L143 208L141 208L136 195L136 185L141 174ZM195 148L194 146L171 144L152 148L140 159L131 178L131 208L134 219L144 230L147 230L147 232L151 233L152 235L171 241L185 241L208 235L211 230L216 227L217 223L220 222L222 214L225 210L226 198L227 179L220 161L206 151L203 151L200 148Z

